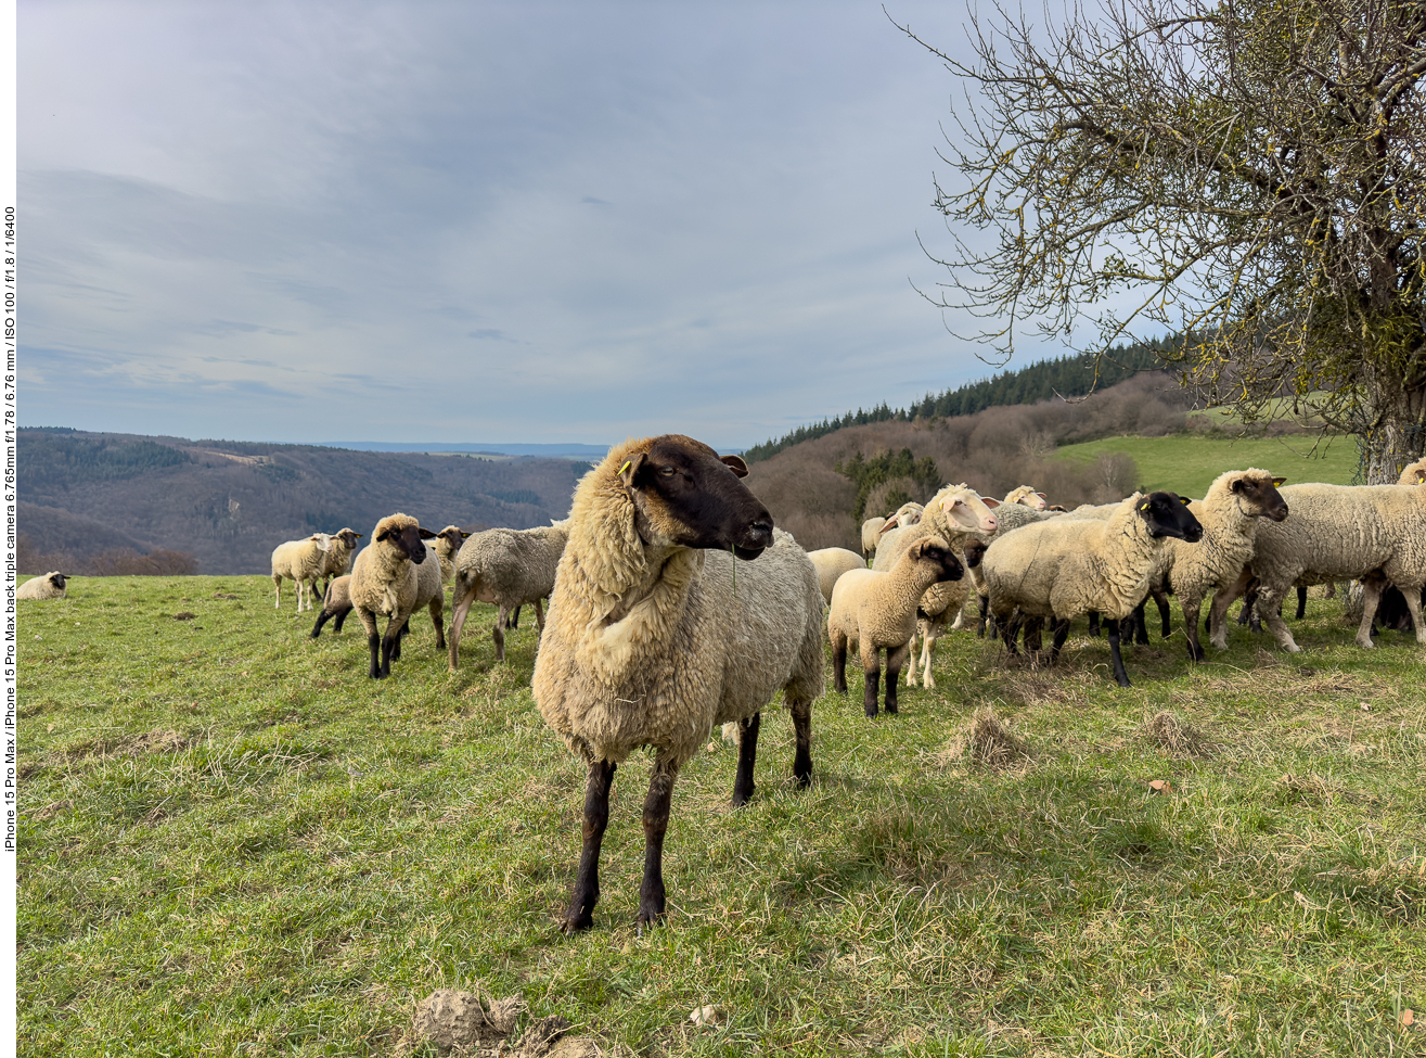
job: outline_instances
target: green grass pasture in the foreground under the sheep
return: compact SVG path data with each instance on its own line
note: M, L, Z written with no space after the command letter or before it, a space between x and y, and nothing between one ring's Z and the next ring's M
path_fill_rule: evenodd
M1282 467L1219 465L1248 463ZM532 702L530 614L495 665L473 613L453 675L414 618L376 682L359 624L314 643L267 578L20 605L24 1055L386 1055L476 984L649 1055L1426 1054L1422 654L1356 648L1336 601L1293 657L1236 627L1199 667L1181 633L1128 650L1129 690L1078 628L1054 670L953 634L900 715L867 721L860 675L819 702L807 791L770 714L737 812L714 732L643 937L640 757L596 928L556 929L583 768ZM1007 767L961 745L987 707Z

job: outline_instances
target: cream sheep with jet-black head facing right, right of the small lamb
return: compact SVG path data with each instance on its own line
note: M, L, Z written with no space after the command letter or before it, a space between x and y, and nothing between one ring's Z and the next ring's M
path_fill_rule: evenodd
M1188 500L1174 493L1135 493L1107 521L1055 518L1025 525L991 541L980 563L990 607L1005 625L1018 607L1025 617L1054 618L1050 660L1070 634L1070 621L1099 611L1109 623L1114 678L1129 685L1119 657L1118 620L1145 597L1165 538L1196 541L1204 535ZM1005 647L1015 651L1015 630L1005 627Z

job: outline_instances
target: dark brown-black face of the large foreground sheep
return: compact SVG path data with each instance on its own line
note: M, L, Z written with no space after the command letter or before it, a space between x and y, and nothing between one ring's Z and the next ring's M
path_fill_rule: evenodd
M619 475L645 540L732 550L739 558L757 558L773 543L773 515L740 481L747 464L737 455L719 457L692 437L665 434Z

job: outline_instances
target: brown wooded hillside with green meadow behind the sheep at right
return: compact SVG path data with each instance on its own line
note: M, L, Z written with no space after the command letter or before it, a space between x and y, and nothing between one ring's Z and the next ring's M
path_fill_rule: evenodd
M1325 460L1305 458L1312 438L1292 433L1291 424L1239 435L1243 427L1225 433L1189 410L1189 396L1169 374L1147 371L1077 401L843 427L752 464L747 484L803 547L860 550L863 514L924 501L931 481L965 481L995 497L1028 484L1051 503L1074 507L1108 503L1139 485L1198 495L1233 467L1343 483L1356 470L1350 441L1336 440Z

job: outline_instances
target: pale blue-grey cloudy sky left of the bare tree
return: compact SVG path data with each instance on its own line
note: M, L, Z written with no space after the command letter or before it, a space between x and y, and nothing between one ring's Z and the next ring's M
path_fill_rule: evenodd
M960 3L20 0L21 425L727 450L987 377L915 290L961 87L887 13L964 50Z

